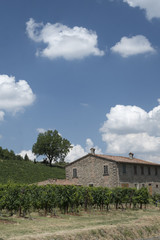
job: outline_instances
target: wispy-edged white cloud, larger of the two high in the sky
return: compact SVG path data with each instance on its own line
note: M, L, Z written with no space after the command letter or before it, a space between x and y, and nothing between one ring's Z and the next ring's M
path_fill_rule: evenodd
M83 27L69 28L60 23L36 23L30 19L26 23L27 33L30 39L35 42L42 42L47 45L38 56L49 59L62 57L66 60L82 59L94 55L103 56L104 51L97 47L97 34Z

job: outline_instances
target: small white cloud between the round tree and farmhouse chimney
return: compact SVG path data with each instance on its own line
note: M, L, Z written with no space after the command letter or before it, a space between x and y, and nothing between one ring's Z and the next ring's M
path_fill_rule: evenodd
M66 162L73 162L74 160L77 160L78 158L81 158L85 155L87 155L90 152L91 148L95 148L97 154L101 154L102 150L98 146L94 146L94 143L90 138L86 139L86 146L83 148L81 145L72 145L73 148L70 150L68 155L65 158Z

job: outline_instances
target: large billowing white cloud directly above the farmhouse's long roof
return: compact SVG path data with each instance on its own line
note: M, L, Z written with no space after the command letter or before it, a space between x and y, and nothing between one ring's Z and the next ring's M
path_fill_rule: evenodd
M160 105L146 112L137 106L116 105L106 114L100 132L107 153L127 154L160 161Z

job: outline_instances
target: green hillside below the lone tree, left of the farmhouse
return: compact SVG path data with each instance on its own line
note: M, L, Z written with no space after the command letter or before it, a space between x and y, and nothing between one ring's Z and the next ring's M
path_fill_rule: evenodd
M49 167L41 163L0 159L0 183L35 183L49 178L65 178L64 168Z

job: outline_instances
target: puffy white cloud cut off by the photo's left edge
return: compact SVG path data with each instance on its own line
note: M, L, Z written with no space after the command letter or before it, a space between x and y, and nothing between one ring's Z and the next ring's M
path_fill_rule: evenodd
M0 75L0 119L4 111L16 113L31 105L35 100L29 84L25 80L15 81L15 77Z

